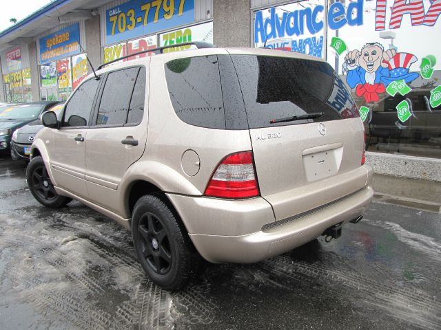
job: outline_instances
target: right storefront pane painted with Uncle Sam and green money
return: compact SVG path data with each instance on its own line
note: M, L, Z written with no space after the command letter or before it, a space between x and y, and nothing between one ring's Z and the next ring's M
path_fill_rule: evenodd
M441 6L358 0L342 8L341 19L362 24L330 28L327 59L351 87L367 150L441 158Z

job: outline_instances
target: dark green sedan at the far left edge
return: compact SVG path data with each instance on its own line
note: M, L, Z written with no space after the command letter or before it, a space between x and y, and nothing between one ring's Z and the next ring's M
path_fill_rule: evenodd
M10 148L12 134L16 129L25 126L48 111L54 104L54 101L41 101L21 103L9 107L0 113L0 151L7 151Z

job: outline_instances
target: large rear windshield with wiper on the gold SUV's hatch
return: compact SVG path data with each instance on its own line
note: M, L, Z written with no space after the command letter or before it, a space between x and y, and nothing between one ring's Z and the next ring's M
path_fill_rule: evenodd
M274 56L231 56L245 101L249 128L338 120L357 115L345 84L327 63ZM270 124L307 113L322 117Z

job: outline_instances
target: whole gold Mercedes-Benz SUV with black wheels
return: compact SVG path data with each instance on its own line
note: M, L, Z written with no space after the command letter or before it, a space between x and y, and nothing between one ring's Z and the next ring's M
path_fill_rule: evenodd
M166 289L201 256L255 263L337 238L373 196L358 109L328 63L199 46L101 65L43 115L27 170L44 206L76 199L132 230Z

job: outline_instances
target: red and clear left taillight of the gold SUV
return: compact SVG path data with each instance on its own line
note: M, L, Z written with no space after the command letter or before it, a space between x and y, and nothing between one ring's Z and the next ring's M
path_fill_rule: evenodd
M258 196L252 151L225 157L209 180L205 195L235 199Z

